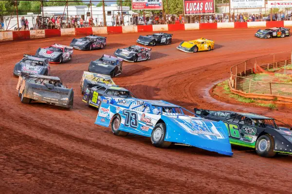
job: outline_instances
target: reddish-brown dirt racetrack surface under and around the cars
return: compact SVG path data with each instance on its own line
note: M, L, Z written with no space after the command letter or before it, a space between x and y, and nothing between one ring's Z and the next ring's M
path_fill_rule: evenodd
M258 39L257 29L173 32L173 44L152 48L151 60L123 64L114 81L140 98L164 99L193 110L237 110L263 113L289 121L291 110L228 105L208 90L230 75L240 61L291 49L291 37ZM74 88L74 107L22 104L16 91L14 65L24 53L72 37L0 43L0 193L291 193L291 157L262 158L233 146L233 157L195 147L155 148L150 139L114 136L94 125L97 115L81 101L80 79L89 62L102 54L135 44L138 35L107 35L103 50L74 50L72 61L51 65L51 75ZM183 40L215 40L210 52L184 53ZM290 121L290 124L292 122Z

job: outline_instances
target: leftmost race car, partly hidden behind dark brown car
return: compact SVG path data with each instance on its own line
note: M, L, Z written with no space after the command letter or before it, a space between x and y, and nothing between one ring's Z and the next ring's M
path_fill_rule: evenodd
M14 66L13 74L19 76L21 72L50 75L50 65L46 58L24 54L23 59Z

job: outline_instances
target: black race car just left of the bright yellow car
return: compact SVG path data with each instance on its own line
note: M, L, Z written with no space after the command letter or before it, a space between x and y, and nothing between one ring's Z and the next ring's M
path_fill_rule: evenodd
M172 42L170 33L154 33L146 36L139 36L137 43L145 46L168 45Z

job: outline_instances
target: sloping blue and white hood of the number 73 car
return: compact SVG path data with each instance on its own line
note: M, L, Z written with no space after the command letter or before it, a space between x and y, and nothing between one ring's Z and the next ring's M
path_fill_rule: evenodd
M224 155L233 155L228 131L222 121L215 122L186 115L162 116L162 119L168 124L165 141L195 146Z

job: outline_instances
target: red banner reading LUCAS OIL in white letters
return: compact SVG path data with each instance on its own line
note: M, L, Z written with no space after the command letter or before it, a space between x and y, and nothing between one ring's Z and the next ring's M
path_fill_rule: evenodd
M215 0L183 0L185 15L214 14Z

